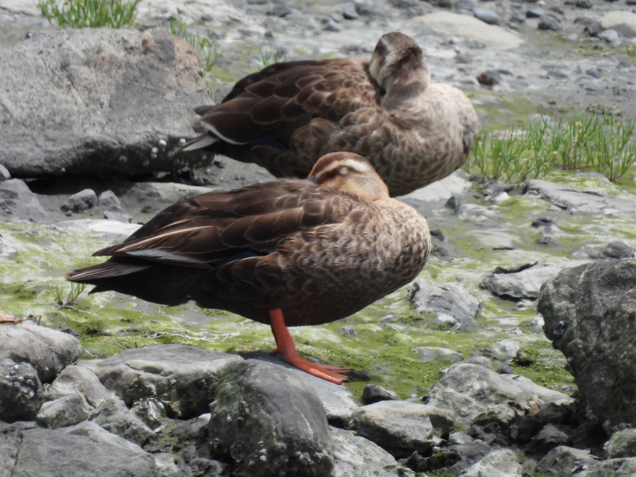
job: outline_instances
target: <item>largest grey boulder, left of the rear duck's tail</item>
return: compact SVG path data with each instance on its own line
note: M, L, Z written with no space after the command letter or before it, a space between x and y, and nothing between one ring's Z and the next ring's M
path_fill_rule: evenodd
M65 29L0 50L0 163L13 176L146 174L211 102L197 53L165 29Z

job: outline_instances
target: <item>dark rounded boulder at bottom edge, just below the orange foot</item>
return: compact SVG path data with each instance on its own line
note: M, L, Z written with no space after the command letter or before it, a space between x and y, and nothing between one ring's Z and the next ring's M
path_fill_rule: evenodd
M247 359L219 378L211 406L216 455L240 477L328 477L333 445L322 403L283 366Z

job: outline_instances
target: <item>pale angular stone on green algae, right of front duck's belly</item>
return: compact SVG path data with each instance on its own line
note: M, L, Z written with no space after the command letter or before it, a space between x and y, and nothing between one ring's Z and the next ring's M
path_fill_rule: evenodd
M481 312L481 304L459 283L420 286L415 282L409 299L419 314L431 314L437 322L461 323L463 329L478 327L474 319Z

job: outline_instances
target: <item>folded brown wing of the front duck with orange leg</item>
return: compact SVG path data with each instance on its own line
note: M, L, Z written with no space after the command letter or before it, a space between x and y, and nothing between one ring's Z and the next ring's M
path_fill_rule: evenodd
M255 184L174 204L122 244L93 255L214 268L270 254L281 240L338 223L353 207L346 196L307 181Z

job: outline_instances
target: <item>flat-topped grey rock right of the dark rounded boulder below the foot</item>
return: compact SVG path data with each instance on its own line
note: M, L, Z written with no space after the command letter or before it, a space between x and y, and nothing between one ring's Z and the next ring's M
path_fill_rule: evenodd
M439 436L455 427L452 415L435 406L408 401L379 401L354 411L349 429L396 457L425 453Z

